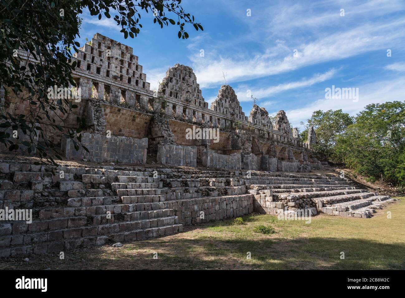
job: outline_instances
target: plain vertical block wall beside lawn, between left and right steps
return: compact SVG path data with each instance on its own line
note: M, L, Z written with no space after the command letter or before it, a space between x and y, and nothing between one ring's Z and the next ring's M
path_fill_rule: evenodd
M175 210L183 225L238 217L254 210L251 194L167 201L164 205L164 208ZM204 218L200 218L201 212Z

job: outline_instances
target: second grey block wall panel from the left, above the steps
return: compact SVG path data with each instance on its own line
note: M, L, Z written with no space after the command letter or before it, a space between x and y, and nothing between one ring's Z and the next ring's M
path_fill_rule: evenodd
M158 146L157 161L172 166L197 166L197 147L164 144Z

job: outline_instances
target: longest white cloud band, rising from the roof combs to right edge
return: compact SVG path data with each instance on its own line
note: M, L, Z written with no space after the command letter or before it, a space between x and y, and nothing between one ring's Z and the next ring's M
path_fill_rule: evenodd
M205 57L192 56L192 68L196 73L201 87L213 87L223 81L222 71L227 73L228 83L255 79L269 75L296 70L303 66L321 62L344 59L386 49L387 45L395 45L405 36L403 28L405 20L366 24L348 31L338 31L324 38L290 47L285 43L277 43L275 47L264 53L251 57L222 57L210 55L205 51ZM290 50L288 50L290 49ZM298 50L294 57L293 50ZM275 53L277 56L275 57Z

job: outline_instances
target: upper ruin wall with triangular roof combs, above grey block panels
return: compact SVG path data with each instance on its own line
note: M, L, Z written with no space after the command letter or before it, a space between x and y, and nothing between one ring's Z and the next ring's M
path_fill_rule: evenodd
M228 156L218 157L219 163L226 166L224 160L228 160L231 154L241 154L243 165L239 167L252 169L269 167L262 155L275 158L275 144L306 151L310 147L298 140L298 130L291 131L284 111L277 113L274 129L268 112L258 105L254 105L248 119L229 85L221 86L209 109L196 76L188 66L176 64L169 68L158 90L153 92L132 48L101 34L95 34L83 45L74 59L77 69L73 77L77 87L81 88L83 100L78 104L77 113L69 115L72 128L81 125L76 121L77 116L84 117L86 132L149 138L149 155L153 157L160 145L196 146L198 163L203 162L203 151L211 150ZM7 108L7 104L5 106ZM16 109L14 113L20 110ZM194 125L220 128L220 142L186 139L183 128ZM43 129L47 131L47 128ZM49 135L60 141L60 135ZM118 153L116 158L121 161ZM295 162L288 156L282 161Z

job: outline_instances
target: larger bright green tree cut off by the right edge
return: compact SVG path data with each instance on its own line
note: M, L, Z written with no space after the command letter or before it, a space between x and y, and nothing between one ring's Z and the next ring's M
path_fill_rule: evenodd
M405 178L405 102L369 104L337 137L334 158L392 184Z

